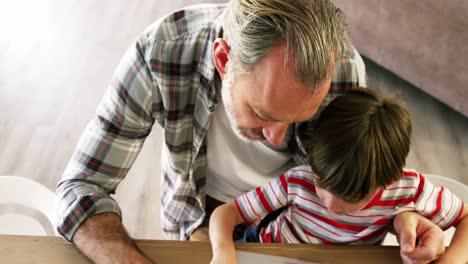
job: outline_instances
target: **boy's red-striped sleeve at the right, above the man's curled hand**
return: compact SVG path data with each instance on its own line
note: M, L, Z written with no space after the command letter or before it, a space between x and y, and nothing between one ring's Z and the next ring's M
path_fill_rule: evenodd
M463 201L443 186L419 174L415 210L443 230L455 225L463 212Z

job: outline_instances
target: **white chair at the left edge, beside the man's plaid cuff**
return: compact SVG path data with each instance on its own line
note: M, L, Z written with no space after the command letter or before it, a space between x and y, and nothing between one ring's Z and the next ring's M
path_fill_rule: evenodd
M57 235L55 194L24 177L0 176L0 234Z

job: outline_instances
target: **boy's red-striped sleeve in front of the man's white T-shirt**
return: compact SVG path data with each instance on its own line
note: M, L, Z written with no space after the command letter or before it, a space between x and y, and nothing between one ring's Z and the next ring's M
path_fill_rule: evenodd
M266 185L237 197L234 202L246 223L261 220L267 214L287 205L287 174L281 174Z

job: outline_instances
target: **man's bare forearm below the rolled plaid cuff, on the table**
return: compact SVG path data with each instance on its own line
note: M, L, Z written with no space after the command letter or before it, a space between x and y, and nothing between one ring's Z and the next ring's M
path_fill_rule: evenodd
M114 213L85 220L73 236L73 243L94 263L153 263L138 250Z

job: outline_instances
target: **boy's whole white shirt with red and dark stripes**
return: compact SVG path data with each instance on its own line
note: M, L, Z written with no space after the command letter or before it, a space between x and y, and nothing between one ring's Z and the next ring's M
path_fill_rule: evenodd
M464 203L449 190L433 185L416 171L404 170L399 181L380 190L363 209L338 215L317 196L312 175L310 166L299 166L235 199L247 223L259 222L287 206L260 230L262 242L375 244L398 213L415 211L445 230L463 212Z

